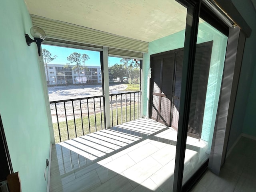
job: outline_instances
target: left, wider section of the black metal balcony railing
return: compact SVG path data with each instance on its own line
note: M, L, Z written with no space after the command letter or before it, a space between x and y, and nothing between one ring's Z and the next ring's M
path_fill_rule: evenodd
M56 143L106 128L104 96L51 101Z

